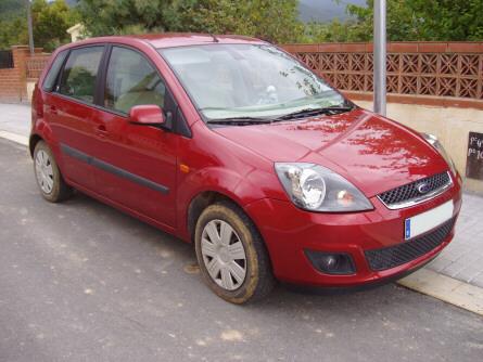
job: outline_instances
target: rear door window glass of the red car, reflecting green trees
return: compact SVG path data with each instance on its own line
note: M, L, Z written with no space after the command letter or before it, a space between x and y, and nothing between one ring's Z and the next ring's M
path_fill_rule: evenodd
M87 103L93 103L96 78L104 47L89 47L71 51L62 73L59 92Z

